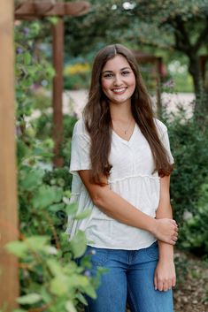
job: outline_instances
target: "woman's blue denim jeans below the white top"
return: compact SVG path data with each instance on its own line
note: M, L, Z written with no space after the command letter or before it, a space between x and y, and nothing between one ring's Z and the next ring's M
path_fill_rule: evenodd
M92 252L94 250L94 252ZM158 263L158 242L140 250L88 247L93 254L92 274L96 267L107 268L96 290L97 298L87 298L86 312L173 312L172 290L154 289L154 271Z

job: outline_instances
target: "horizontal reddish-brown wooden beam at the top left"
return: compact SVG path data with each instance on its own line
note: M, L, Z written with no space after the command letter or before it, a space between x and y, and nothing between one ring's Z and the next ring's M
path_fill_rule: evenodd
M15 9L15 19L38 19L48 16L81 16L89 11L85 1L54 4L52 1L24 2Z

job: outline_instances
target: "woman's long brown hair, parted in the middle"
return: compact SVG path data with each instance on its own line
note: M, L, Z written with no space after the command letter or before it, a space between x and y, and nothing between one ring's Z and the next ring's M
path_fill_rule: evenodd
M135 73L135 92L131 98L131 110L136 124L150 144L155 162L155 171L160 177L170 175L173 166L170 164L166 148L159 140L153 118L152 105L133 53L121 44L112 44L101 49L94 60L89 88L89 101L83 111L85 126L91 139L90 160L92 179L101 184L102 177L108 177L112 165L109 154L112 141L112 118L108 98L101 86L101 73L106 62L116 55L127 59Z

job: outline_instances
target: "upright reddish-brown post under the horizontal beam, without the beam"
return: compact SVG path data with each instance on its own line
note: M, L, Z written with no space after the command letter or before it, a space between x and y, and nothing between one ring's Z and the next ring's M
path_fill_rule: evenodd
M53 79L53 140L54 140L54 165L63 165L63 159L59 155L63 138L63 51L64 51L64 21L59 19L53 26L53 66L56 75Z

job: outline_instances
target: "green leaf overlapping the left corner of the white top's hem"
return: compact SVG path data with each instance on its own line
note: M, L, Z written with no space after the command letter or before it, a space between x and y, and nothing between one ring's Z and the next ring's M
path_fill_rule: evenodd
M73 237L73 240L70 241L70 246L75 258L79 258L83 255L87 248L85 233L79 230Z

